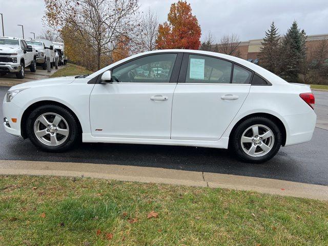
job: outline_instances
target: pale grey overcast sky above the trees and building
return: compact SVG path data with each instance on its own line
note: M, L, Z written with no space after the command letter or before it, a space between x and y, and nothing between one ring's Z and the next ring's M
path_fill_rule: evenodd
M140 10L152 8L160 22L167 20L170 0L139 0ZM224 34L236 33L241 41L262 38L272 20L280 33L285 33L293 20L308 35L328 33L328 0L190 0L192 12L198 18L203 36L209 31L219 39ZM43 0L0 0L4 14L5 35L25 38L38 35L43 28ZM2 30L1 30L2 31ZM2 35L2 32L0 32Z

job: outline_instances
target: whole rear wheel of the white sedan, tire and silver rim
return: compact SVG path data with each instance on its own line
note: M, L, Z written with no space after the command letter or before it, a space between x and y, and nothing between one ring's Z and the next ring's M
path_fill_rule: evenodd
M273 120L252 117L237 126L230 147L242 161L261 163L276 155L281 142L281 131Z

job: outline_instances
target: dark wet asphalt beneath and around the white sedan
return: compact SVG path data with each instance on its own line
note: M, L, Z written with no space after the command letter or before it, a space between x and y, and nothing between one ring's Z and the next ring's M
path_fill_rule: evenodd
M7 90L8 87L0 87L1 107ZM328 92L314 93L320 124L313 139L305 144L282 147L272 160L260 165L236 161L227 150L195 147L81 143L69 152L49 154L36 149L28 139L6 133L3 127L0 127L0 159L160 167L328 185L328 130L325 130ZM0 116L3 118L2 110Z

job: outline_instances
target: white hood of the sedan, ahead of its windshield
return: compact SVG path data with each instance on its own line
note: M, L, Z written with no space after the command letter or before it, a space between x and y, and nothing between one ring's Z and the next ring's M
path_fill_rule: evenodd
M66 85L72 83L74 79L75 76L40 79L40 80L31 81L31 82L13 86L9 89L9 91L23 89L23 88L41 87L41 86L46 87L46 86L54 86L54 85Z

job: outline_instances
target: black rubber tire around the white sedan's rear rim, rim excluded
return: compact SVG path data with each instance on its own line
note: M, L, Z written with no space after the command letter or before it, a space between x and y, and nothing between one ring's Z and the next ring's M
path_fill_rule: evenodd
M243 135L243 133L249 129L250 127L254 126L254 125L262 125L265 126L267 128L269 128L274 136L274 142L272 144L271 150L268 151L268 153L263 153L262 156L251 156L249 154L247 154L244 149L247 149L247 146L243 146L241 144L241 137ZM253 141L253 140L252 140ZM262 140L264 143L264 140ZM255 149L259 151L261 151L261 144L258 147L256 147ZM240 122L240 124L237 126L237 128L234 130L233 134L231 135L231 139L230 139L230 143L229 143L229 148L233 151L233 153L241 160L241 161L245 161L245 162L250 162L250 163L262 163L265 161L270 160L272 157L274 157L278 150L280 149L280 146L282 144L282 134L281 131L279 129L279 127L277 126L277 124L269 119L269 118L265 118L265 117L252 117L252 118L248 118L245 119L244 121ZM253 145L253 142L250 142L250 145ZM255 145L255 143L254 143ZM264 147L264 146L263 146ZM258 149L260 148L260 149Z

